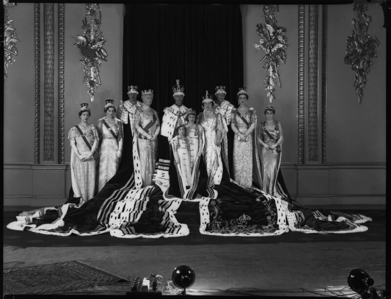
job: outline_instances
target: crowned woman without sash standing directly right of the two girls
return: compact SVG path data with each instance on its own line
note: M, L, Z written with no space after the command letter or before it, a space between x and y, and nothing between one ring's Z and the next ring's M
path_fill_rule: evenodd
M221 114L213 110L213 100L208 91L202 99L204 111L198 114L197 124L201 125L205 134L202 155L208 173L208 186L214 186L220 184L223 174L220 145L224 125Z

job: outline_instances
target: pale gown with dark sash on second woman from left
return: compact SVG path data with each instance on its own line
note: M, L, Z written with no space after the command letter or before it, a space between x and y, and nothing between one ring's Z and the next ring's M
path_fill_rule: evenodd
M114 118L114 124L110 129L114 132L115 138L109 129L103 124L105 117L98 120L98 133L101 141L100 156L99 156L99 178L98 192L118 170L120 159L117 159L117 151L122 152L124 128L122 122L118 118Z

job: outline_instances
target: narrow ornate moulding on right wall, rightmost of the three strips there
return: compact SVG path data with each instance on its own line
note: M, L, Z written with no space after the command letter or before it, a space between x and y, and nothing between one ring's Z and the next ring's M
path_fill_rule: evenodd
M322 5L322 164L326 164L327 130L327 5Z

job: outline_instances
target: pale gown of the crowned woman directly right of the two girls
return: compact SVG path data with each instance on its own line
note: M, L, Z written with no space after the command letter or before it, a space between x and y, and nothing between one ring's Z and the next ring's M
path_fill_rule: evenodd
M208 186L218 185L223 173L221 147L216 146L217 130L223 131L224 129L221 114L212 112L210 116L205 116L204 112L201 112L198 115L197 124L201 125L205 133L202 155L208 173Z

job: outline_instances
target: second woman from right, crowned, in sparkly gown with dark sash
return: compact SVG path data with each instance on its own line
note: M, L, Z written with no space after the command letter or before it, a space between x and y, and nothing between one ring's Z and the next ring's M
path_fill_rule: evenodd
M235 133L233 151L233 176L235 182L250 188L253 181L253 135L257 115L253 107L247 106L248 94L239 88L237 95L239 107L232 110L231 128Z

